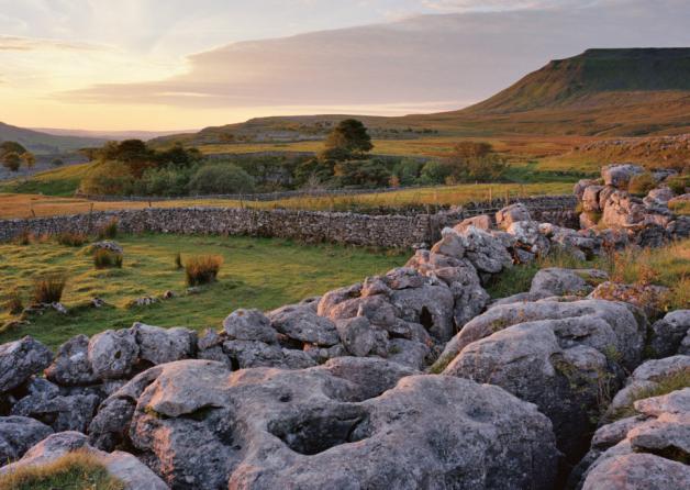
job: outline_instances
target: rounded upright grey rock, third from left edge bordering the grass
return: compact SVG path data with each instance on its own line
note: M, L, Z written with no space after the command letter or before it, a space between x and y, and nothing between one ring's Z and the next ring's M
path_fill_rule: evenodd
M100 379L126 378L136 364L138 345L132 330L107 330L89 341L89 361Z

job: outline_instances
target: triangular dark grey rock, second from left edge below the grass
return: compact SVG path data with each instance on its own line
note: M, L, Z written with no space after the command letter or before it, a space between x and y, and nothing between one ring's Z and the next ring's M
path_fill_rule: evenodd
M89 361L89 337L77 335L60 345L55 360L45 370L53 382L64 386L92 385L98 377Z

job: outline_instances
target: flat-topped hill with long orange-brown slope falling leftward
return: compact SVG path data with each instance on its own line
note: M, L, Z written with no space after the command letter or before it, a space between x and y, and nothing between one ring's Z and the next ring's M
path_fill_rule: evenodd
M399 118L300 115L253 119L165 136L191 145L320 140L345 118L377 138L429 134L641 136L690 132L690 48L588 49L548 63L472 107Z

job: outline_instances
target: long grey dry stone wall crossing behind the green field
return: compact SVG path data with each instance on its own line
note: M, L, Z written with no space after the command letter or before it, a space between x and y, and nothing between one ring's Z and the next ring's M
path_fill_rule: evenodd
M570 225L575 200L554 197L524 200L536 220ZM436 214L356 214L246 208L148 208L102 211L29 220L0 221L0 241L22 233L52 235L60 232L96 233L112 220L125 233L227 234L334 242L382 247L412 247L436 241L444 226L465 218L493 213L500 205L457 208ZM498 204L498 203L497 203Z

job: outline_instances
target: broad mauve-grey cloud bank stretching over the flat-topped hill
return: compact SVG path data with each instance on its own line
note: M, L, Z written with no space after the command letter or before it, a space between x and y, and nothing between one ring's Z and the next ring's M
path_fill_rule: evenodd
M494 93L549 59L589 47L690 45L690 4L683 0L556 3L564 7L420 15L234 43L189 56L183 75L101 83L57 97L198 109L460 104Z

